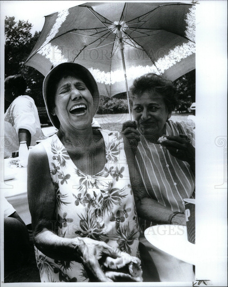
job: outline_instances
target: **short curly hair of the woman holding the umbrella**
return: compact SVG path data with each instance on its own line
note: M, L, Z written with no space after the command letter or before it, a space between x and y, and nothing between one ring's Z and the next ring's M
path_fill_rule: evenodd
M130 92L131 97L141 96L144 92L156 92L162 95L168 113L171 113L178 103L177 90L173 82L155 73L148 73L135 79Z

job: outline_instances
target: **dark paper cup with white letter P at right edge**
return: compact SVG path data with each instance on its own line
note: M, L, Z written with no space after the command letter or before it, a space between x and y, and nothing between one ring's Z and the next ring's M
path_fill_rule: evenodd
M195 199L184 198L184 207L188 241L195 244Z

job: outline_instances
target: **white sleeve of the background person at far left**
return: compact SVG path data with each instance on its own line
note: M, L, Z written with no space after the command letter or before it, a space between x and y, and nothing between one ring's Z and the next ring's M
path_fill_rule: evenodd
M31 135L36 133L36 118L31 98L19 97L13 106L14 128L18 134L19 129L27 129Z

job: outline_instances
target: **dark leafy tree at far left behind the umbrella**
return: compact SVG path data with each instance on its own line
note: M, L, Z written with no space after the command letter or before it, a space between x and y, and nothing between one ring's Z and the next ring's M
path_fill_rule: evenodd
M44 76L32 67L23 66L31 53L40 32L31 34L32 24L15 17L5 18L5 77L21 74L27 82L26 94L31 96L36 106L45 106L42 96ZM5 101L5 110L9 103Z

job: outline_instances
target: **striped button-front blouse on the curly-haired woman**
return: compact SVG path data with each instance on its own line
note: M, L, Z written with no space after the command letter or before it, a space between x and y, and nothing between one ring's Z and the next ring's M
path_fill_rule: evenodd
M192 126L185 122L166 122L166 135L180 133L187 135L195 146ZM194 198L195 193L195 177L189 164L172 156L160 144L148 143L143 135L135 157L148 195L170 210L184 212L183 199Z

